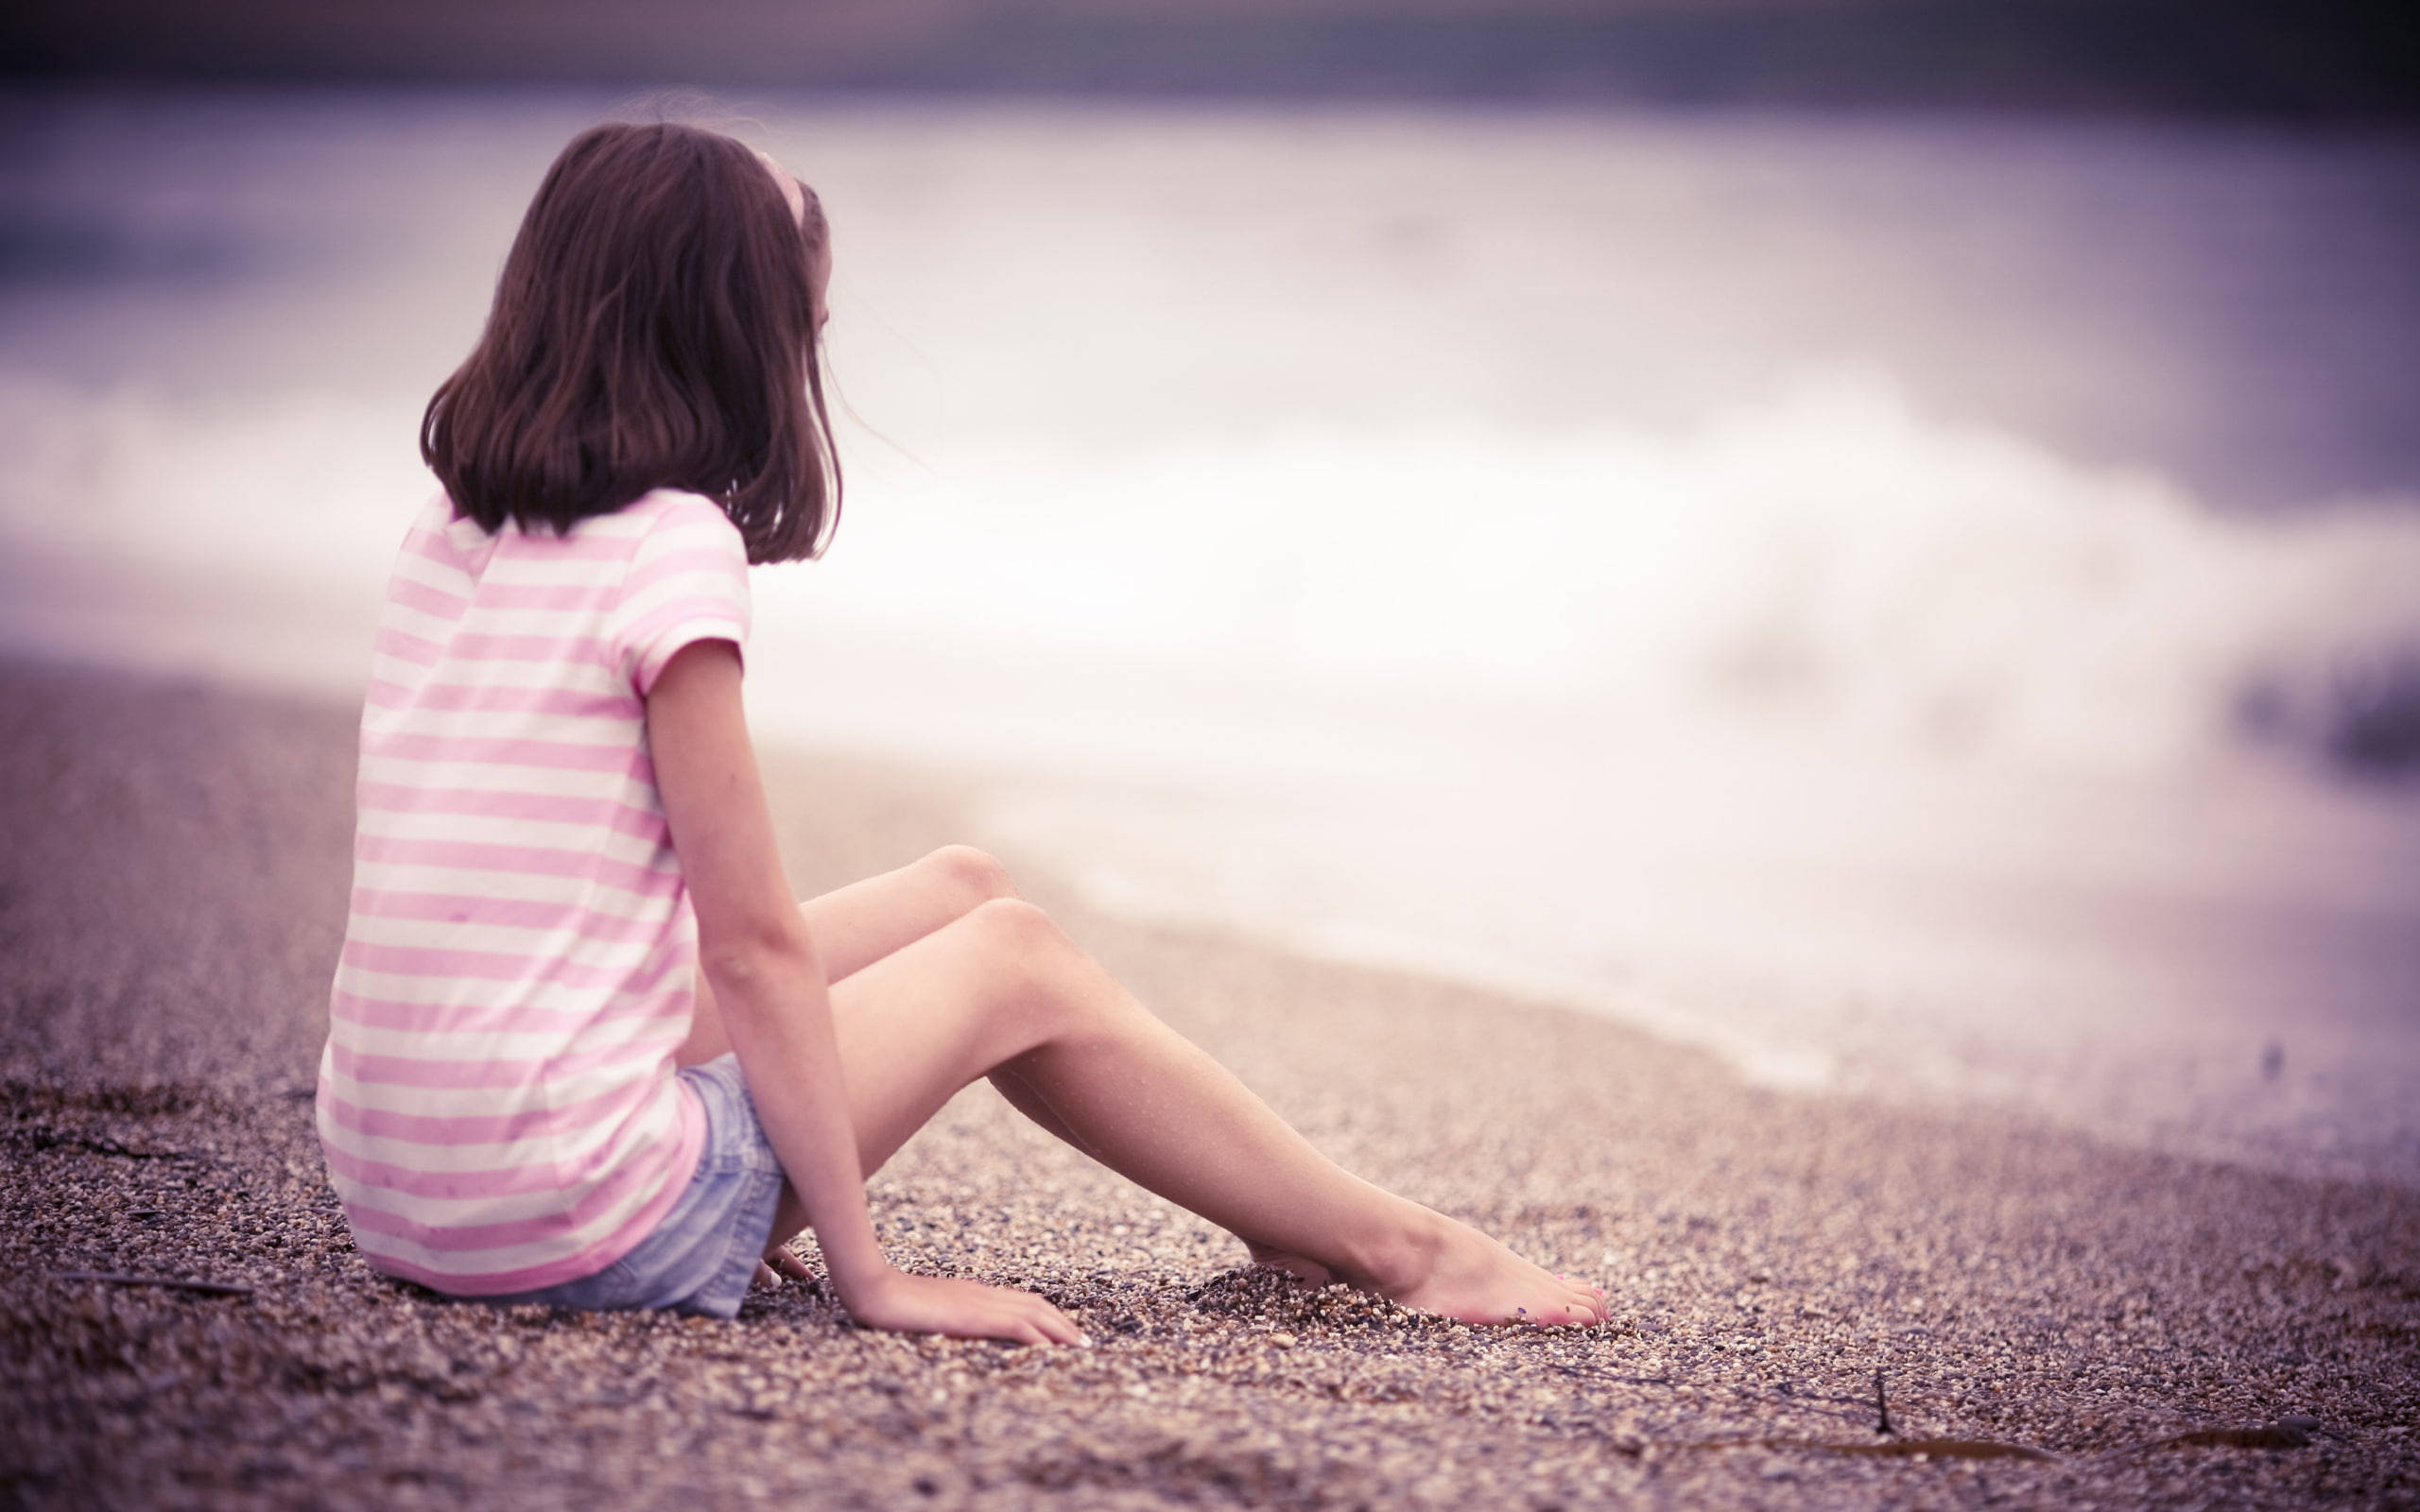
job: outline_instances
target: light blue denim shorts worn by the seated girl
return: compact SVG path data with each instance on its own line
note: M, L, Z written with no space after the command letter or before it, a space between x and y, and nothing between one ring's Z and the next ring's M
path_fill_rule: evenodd
M765 1142L765 1125L757 1123L736 1055L687 1067L680 1079L707 1110L707 1142L697 1152L690 1190L680 1193L656 1231L595 1275L482 1302L544 1302L583 1311L661 1306L709 1318L741 1311L757 1258L772 1241L782 1164Z

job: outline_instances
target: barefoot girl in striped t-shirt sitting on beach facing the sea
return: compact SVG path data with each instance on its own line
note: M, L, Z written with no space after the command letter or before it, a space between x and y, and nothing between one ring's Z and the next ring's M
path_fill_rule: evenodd
M361 1253L491 1302L733 1316L816 1231L857 1323L1084 1343L883 1260L864 1178L990 1077L1256 1260L1467 1321L1600 1292L1348 1176L999 866L791 902L741 716L748 576L840 508L816 196L600 126L537 191L421 455L361 721L319 1139Z

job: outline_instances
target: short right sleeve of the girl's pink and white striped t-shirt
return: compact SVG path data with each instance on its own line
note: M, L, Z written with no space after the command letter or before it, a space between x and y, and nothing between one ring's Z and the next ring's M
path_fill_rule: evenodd
M714 501L678 494L649 523L622 571L610 634L639 697L692 641L748 644L748 544Z

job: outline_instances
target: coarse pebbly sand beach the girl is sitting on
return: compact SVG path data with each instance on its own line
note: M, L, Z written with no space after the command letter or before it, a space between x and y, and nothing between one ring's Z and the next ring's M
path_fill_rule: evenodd
M1014 854L1324 1149L1614 1321L1246 1272L980 1086L874 1181L881 1236L1096 1350L876 1335L796 1285L731 1323L440 1302L358 1260L310 1127L353 714L29 663L0 709L10 1505L2420 1505L2415 1190L1757 1091L1551 1004L1099 917ZM963 839L980 781L772 772L801 890Z

